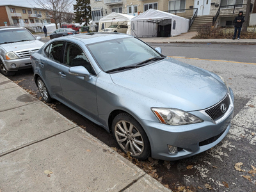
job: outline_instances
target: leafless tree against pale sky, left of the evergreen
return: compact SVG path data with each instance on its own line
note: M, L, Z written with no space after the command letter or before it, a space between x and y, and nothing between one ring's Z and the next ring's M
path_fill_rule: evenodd
M63 13L68 12L72 4L72 0L33 0L40 8L51 12L51 18L55 20L56 29L58 29L58 23L61 26L61 20Z

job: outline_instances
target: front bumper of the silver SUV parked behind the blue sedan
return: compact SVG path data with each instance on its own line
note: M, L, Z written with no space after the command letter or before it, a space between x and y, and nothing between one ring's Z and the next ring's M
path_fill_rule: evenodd
M12 68L11 65L14 63L16 65L15 68ZM30 58L22 58L22 59L16 59L16 60L4 60L3 61L4 67L8 71L17 71L20 69L25 69L25 68L31 68L31 60Z

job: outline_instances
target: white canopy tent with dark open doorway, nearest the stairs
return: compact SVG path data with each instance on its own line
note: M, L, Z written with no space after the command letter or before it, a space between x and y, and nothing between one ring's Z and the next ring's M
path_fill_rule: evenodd
M132 18L131 35L138 37L177 36L188 32L189 19L149 9Z

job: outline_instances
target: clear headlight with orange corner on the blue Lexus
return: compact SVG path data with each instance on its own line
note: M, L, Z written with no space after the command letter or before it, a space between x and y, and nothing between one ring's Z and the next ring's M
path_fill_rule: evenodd
M195 115L186 111L173 108L151 108L162 124L168 125L186 125L204 122Z

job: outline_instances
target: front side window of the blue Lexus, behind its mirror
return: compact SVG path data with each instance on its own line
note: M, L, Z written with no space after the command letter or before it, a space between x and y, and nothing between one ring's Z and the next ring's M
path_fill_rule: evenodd
M75 44L67 43L63 63L70 67L83 66L90 74L96 75L83 50Z

